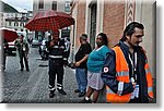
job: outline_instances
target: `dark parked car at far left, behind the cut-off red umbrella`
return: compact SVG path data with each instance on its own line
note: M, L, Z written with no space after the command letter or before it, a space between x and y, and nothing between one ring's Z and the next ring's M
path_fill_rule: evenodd
M14 45L14 41L8 44L9 44L8 54L16 55L16 47Z

